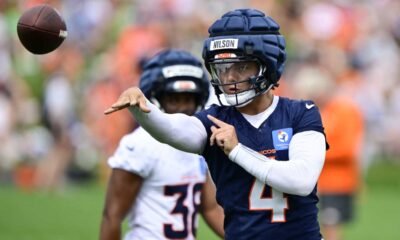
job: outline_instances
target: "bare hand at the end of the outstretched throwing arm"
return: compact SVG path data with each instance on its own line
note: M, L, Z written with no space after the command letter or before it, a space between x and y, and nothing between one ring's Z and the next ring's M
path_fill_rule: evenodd
M140 110L146 113L150 112L143 92L137 87L132 87L125 90L119 96L118 100L111 105L110 108L104 111L104 114L110 114L130 106L137 106Z

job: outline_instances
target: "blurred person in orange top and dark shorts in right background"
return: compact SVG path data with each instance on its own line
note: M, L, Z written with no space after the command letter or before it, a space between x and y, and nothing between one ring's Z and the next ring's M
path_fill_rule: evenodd
M291 86L297 97L313 99L321 109L331 148L318 180L320 222L326 239L341 240L343 224L353 220L360 190L364 118L360 107L318 62L304 64Z

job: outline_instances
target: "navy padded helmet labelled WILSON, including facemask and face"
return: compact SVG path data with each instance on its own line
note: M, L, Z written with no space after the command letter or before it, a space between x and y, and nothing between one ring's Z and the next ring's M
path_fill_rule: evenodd
M221 105L245 106L278 86L286 60L279 28L271 17L254 9L230 11L211 25L203 59ZM236 76L224 80L229 72ZM244 83L250 87L241 89Z

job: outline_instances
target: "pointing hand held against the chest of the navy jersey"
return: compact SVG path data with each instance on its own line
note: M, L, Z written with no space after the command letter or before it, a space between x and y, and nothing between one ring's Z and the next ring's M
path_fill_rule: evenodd
M215 126L211 127L211 132L212 132L212 135L210 137L211 146L216 143L222 150L224 150L226 155L229 155L232 149L236 147L236 145L238 145L239 143L235 127L211 115L207 115L207 117L217 126L217 127Z

